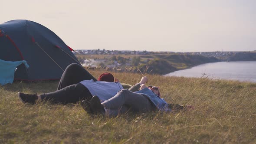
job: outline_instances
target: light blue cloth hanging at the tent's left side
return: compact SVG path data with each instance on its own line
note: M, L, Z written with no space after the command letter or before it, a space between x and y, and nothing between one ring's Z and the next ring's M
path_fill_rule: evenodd
M30 67L25 60L11 62L0 59L0 85L13 83L15 69L21 64L24 64L26 68Z

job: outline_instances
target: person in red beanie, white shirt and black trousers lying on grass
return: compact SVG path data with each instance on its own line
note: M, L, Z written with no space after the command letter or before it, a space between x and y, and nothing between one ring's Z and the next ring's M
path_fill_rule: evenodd
M50 100L53 103L67 104L77 103L82 100L90 100L92 95L98 95L102 101L112 98L116 93L131 86L120 82L113 82L114 76L110 73L102 74L97 81L81 65L70 64L62 74L57 91L37 94L24 94L19 92L18 96L23 103L35 104L37 101Z

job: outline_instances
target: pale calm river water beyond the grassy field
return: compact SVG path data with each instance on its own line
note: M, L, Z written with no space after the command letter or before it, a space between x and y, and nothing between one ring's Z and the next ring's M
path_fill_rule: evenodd
M207 77L256 83L256 61L207 63L191 69L171 72L165 76Z

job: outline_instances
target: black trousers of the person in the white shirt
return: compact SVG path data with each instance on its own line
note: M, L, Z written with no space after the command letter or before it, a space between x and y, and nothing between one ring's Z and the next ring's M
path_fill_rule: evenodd
M77 103L82 100L90 100L92 94L88 88L79 82L83 80L93 79L97 81L87 70L81 65L72 63L63 72L57 91L44 93L41 96L44 100L50 100L53 103Z

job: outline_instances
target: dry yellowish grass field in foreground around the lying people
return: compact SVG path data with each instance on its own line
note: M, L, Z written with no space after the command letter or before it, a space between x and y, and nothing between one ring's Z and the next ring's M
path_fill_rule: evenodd
M114 75L129 84L142 76ZM24 105L17 92L51 92L58 83L14 83L0 86L0 143L256 143L255 83L147 76L167 102L195 109L103 118L79 104Z

